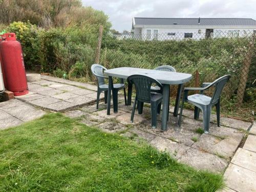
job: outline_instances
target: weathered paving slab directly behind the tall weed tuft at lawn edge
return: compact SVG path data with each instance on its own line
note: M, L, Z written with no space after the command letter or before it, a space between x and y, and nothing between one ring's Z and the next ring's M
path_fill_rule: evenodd
M180 158L190 148L189 146L171 141L163 137L156 137L150 142L150 144L155 146L159 151L166 151L175 159Z

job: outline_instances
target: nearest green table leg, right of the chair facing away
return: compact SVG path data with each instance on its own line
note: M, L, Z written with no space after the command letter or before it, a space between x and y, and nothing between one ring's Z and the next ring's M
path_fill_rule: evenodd
M162 130L167 129L167 119L168 119L168 101L169 101L169 84L163 84L163 114L162 114Z

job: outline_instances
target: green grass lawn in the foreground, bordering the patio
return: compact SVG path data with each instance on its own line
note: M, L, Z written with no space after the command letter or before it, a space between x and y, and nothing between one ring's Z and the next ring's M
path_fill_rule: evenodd
M0 191L215 191L201 172L146 143L61 114L0 131Z

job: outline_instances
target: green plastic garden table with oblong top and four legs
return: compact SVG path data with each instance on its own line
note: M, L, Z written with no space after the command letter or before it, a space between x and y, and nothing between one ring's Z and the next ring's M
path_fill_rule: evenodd
M108 89L108 108L107 114L110 115L110 107L111 107L111 90L113 85L112 77L127 79L131 75L146 75L148 77L157 79L163 85L163 108L162 108L162 130L165 131L167 127L168 120L168 104L169 104L169 90L170 84L178 84L179 89L177 92L174 116L178 115L179 111L179 103L181 97L181 90L183 88L183 84L189 81L192 78L191 74L187 73L177 73L177 72L166 72L166 71L158 71L151 69L141 69L141 68L130 68L130 67L122 67L122 68L114 68L110 70L105 70L104 75L109 77L109 89ZM132 85L128 85L128 98L127 104L131 105L132 100ZM113 100L114 105L114 113L117 113L118 110L118 102Z

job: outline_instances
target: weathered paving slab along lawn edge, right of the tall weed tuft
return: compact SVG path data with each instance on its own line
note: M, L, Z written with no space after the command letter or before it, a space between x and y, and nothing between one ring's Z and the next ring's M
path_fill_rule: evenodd
M197 169L210 170L211 172L216 173L223 173L228 165L228 162L225 159L193 147L190 147L189 150L182 155L179 161Z

